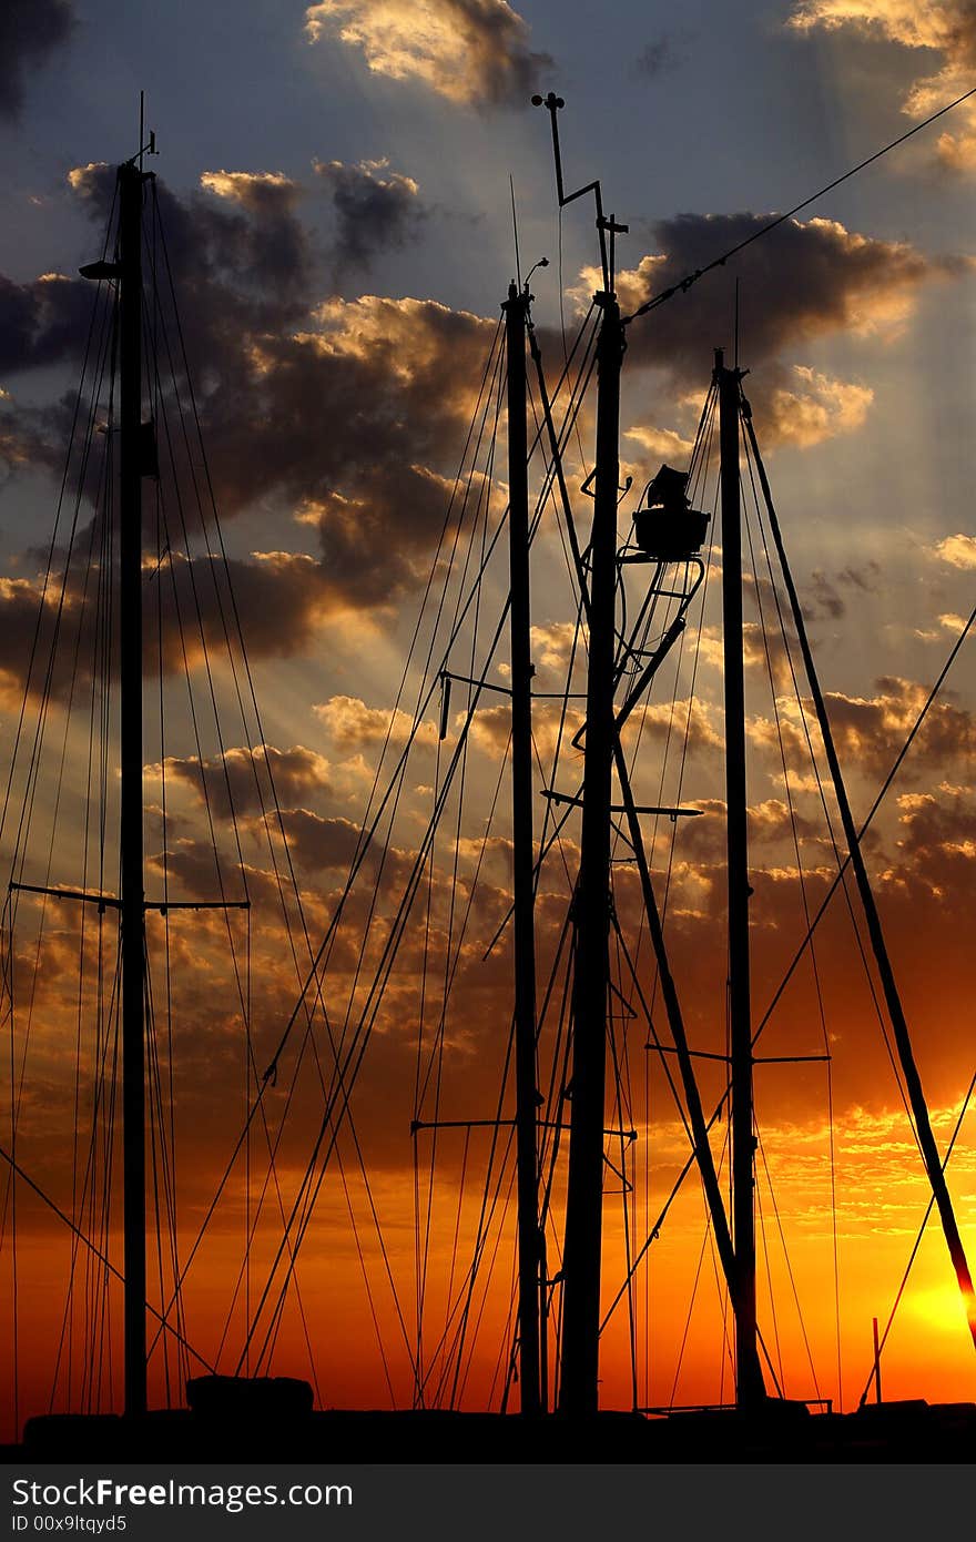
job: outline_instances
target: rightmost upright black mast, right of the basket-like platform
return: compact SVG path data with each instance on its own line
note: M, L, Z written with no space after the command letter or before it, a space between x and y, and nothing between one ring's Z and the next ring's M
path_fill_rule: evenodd
M715 348L722 458L722 629L725 652L725 797L728 843L729 1052L732 1084L732 1238L735 1249L735 1402L763 1397L756 1329L752 1133L752 1008L749 990L749 850L742 645L742 507L739 497L739 370Z

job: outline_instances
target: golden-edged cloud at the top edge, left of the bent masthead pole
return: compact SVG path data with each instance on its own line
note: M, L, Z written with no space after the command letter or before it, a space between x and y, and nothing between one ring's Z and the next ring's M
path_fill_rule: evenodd
M549 54L506 0L319 0L305 11L310 43L338 37L373 74L416 80L450 102L524 103Z

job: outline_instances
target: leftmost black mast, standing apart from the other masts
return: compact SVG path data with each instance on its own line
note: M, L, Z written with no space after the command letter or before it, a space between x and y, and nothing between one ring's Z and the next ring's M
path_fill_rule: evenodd
M119 697L125 1412L146 1408L145 893L142 847L142 185L119 167Z

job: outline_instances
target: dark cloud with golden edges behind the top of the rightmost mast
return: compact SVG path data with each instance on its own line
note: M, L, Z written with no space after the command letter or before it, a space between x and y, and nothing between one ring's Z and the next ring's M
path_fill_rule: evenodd
M768 221L768 214L752 213L660 221L654 227L657 251L618 274L621 307L637 310ZM876 241L837 221L789 219L739 253L725 282L712 273L688 296L658 307L652 321L634 322L628 361L661 370L672 393L700 399L712 348L732 341L731 284L739 276L743 362L754 372L748 393L759 433L765 443L816 444L857 429L873 393L788 355L834 332L891 341L911 316L922 284L964 268L964 259L927 258L907 242ZM595 278L589 270L584 274L587 284ZM648 433L640 429L637 436L654 447Z

